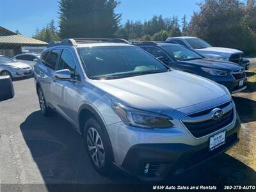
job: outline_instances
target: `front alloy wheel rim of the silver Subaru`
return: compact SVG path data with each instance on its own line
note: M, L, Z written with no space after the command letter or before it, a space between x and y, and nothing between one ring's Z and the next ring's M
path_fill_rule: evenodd
M105 163L105 150L100 138L99 132L93 127L90 127L87 132L87 145L96 166L101 168Z

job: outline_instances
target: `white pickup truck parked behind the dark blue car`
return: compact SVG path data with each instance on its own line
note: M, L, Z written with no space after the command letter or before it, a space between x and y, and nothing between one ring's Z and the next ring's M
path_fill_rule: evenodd
M237 49L230 49L225 47L212 47L209 43L205 42L201 38L193 36L177 36L169 37L166 39L168 42L177 43L193 49L196 52L202 54L203 56L213 59L213 60L223 60L223 61L232 61L248 69L250 61L244 59L244 53Z

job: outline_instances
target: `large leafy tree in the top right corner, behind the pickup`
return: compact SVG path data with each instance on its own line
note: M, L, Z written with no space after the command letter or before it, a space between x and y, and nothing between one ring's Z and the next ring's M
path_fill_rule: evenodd
M214 46L256 50L255 22L250 22L255 19L255 1L246 5L239 0L205 0L199 6L189 23L191 35Z

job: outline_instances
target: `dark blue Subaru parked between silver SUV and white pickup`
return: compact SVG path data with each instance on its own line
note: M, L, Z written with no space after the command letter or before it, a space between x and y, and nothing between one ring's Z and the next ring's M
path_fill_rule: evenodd
M244 68L236 63L209 60L191 49L168 42L134 42L169 67L206 77L226 86L230 93L246 89Z

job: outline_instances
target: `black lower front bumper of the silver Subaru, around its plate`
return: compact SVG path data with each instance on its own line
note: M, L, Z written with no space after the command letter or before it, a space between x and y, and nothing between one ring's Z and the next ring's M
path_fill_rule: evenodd
M119 167L141 180L163 180L170 172L182 173L231 148L239 141L240 127L240 120L237 118L234 128L226 132L226 143L211 152L209 141L195 146L182 143L134 145L127 152L122 166Z

